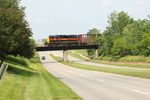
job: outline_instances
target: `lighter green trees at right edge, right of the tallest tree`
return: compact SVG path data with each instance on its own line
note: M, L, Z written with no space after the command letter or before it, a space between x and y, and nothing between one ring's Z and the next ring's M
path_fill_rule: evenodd
M150 41L149 20L134 21L134 23L124 28L123 33L127 41L128 55L150 55L150 49L148 48Z

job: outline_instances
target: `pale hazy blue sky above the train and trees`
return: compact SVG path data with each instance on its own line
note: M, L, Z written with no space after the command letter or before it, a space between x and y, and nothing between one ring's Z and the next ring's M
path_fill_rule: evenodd
M150 15L150 0L22 0L21 5L35 39L86 34L93 28L102 32L113 11L125 11L135 20Z

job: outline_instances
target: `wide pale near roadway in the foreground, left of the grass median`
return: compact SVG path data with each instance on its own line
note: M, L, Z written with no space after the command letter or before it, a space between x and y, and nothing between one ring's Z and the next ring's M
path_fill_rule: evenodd
M48 52L42 63L84 100L150 100L150 80L72 68L56 62Z

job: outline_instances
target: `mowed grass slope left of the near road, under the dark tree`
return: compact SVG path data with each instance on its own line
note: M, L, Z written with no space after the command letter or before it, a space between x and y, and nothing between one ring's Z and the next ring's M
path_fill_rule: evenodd
M7 63L9 68L0 80L0 100L81 100L43 68L38 55L30 60L29 66Z

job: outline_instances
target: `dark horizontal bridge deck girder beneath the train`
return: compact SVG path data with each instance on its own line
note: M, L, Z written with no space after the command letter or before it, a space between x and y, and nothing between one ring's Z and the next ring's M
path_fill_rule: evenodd
M80 46L40 46L36 51L55 51L55 50L77 50L77 49L98 49L98 45L80 45Z

